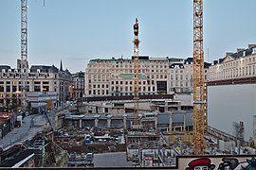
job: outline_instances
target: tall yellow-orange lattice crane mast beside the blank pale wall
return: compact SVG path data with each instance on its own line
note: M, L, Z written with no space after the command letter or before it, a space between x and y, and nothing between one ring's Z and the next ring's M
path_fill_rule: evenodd
M203 51L203 0L193 0L193 152L203 155L206 95Z

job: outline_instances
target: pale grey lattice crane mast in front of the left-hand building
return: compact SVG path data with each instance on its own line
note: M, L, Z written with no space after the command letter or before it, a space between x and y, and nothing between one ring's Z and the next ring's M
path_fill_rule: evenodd
M27 0L21 0L21 104L23 111L26 111L27 69Z

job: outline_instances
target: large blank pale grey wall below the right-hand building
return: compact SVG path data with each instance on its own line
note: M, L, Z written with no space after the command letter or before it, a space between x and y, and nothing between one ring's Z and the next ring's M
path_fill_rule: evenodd
M244 122L245 140L253 136L253 115L256 114L256 85L210 86L208 88L208 122L233 134L233 122Z

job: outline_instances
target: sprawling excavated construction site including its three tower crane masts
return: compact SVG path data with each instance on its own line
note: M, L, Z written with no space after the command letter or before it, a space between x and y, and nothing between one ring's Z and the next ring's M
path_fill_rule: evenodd
M21 96L22 110L26 112L27 0L21 0L21 10ZM74 102L70 89L70 102L63 108L52 110L52 103L47 101L46 111L42 112L45 125L38 127L40 130L32 138L2 149L0 167L11 163L10 167L94 167L95 155L114 152L125 152L125 160L133 167L183 169L191 165L190 161L206 158L214 164L221 163L222 158L233 159L236 167L246 159L255 163L254 144L245 140L243 122L234 125L236 135L208 125L203 0L193 0L192 29L192 93L166 93L161 89L157 94L141 93L145 75L140 61L146 58L139 56L136 18L130 77L133 94L85 96ZM54 112L52 117L49 112ZM17 158L19 161L13 164Z

